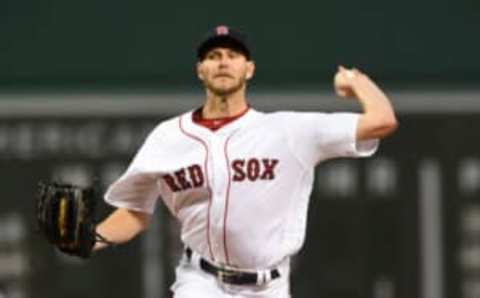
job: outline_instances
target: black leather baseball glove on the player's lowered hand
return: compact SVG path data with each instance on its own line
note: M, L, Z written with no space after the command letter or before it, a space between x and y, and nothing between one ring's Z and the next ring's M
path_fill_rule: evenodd
M36 203L39 230L60 251L88 258L95 242L109 243L95 231L93 187L40 183Z

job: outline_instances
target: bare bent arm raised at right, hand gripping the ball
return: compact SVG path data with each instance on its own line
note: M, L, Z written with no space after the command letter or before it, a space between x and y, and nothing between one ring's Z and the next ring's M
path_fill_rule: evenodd
M334 85L339 96L355 97L362 105L357 141L384 138L397 129L398 122L390 100L367 75L340 66Z

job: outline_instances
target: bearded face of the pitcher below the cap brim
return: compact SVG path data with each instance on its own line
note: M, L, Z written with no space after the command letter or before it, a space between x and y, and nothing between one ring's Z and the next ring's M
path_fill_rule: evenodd
M253 72L253 62L229 48L213 48L197 64L197 74L205 88L219 96L245 89Z

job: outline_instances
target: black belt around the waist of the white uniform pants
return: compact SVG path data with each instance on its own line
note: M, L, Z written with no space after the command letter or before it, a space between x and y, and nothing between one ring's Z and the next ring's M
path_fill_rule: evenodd
M185 254L190 261L192 259L192 250L189 247L185 249ZM211 264L204 258L200 258L200 268L217 277L220 281L232 285L254 285L257 284L258 281L259 273L220 268ZM270 277L271 279L279 278L280 272L278 269L270 270Z

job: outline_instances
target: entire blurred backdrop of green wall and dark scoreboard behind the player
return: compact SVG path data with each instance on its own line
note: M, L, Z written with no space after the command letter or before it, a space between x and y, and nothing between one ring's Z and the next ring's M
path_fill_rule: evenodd
M479 3L3 0L0 298L170 297L181 248L162 206L83 262L35 233L34 196L48 179L105 189L156 123L199 106L194 49L220 23L250 36L257 109L358 110L333 94L344 64L399 113L374 158L318 168L293 297L480 297Z

